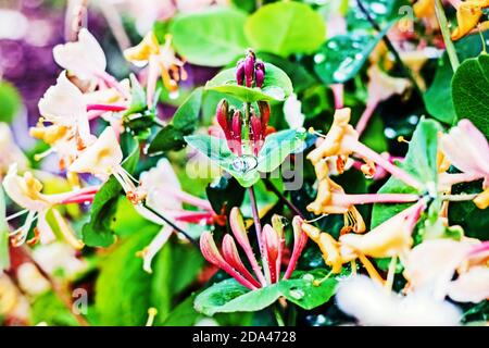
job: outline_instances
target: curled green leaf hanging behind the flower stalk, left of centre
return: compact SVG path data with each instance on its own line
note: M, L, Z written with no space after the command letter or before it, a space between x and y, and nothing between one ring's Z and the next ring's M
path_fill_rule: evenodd
M130 154L124 160L122 166L129 173L134 172L139 160L139 144L134 138L130 145ZM121 138L121 142L124 138ZM82 228L83 240L89 247L108 247L115 241L114 215L122 187L116 178L111 177L102 185L90 209L90 220Z

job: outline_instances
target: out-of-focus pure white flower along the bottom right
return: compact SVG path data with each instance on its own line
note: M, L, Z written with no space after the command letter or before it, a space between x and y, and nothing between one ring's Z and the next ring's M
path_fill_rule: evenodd
M462 314L450 302L427 294L388 293L364 275L342 281L335 298L338 307L362 325L454 326L459 325Z

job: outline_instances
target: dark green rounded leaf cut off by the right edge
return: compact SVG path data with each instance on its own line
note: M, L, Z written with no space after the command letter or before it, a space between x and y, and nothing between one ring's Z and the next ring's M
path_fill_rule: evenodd
M452 98L459 120L468 119L489 136L489 55L465 60L452 79Z

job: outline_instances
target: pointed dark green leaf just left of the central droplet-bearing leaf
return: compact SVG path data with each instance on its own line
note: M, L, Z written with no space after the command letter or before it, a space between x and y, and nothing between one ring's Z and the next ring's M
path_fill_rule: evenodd
M191 134L199 121L202 92L203 89L199 87L188 96L175 112L172 123L155 135L148 153L179 150L185 146L184 136Z

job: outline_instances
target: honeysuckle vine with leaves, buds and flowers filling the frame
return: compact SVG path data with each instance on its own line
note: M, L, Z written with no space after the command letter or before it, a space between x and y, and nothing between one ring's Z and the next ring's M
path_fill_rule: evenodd
M1 319L487 324L487 0L156 2L67 11L36 147L0 108Z

